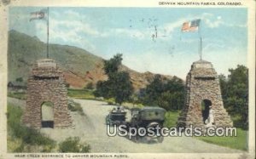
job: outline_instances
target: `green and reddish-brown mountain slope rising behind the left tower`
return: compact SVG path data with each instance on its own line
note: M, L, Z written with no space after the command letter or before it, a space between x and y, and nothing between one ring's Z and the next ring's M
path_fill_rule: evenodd
M9 31L8 68L9 82L22 77L26 83L32 65L46 58L46 44L38 37L30 37L18 31ZM94 85L108 77L102 70L103 59L90 52L73 46L49 44L49 58L54 59L64 72L66 82L71 88L84 88L89 82ZM140 73L122 65L121 70L128 71L134 88L144 88L154 78L151 72ZM162 76L172 78L171 76Z

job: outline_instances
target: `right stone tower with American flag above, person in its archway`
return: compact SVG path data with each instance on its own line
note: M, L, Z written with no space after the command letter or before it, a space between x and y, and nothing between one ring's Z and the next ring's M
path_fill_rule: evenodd
M213 114L213 127L232 127L233 122L224 109L218 74L212 63L199 60L191 65L186 79L186 103L181 112L178 127L207 127L209 114ZM209 113L209 110L213 113Z

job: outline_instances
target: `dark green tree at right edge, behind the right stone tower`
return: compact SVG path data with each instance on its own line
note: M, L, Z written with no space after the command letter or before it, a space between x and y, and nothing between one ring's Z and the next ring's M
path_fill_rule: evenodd
M248 128L248 70L244 65L230 69L228 78L219 77L224 107L233 117L234 125Z

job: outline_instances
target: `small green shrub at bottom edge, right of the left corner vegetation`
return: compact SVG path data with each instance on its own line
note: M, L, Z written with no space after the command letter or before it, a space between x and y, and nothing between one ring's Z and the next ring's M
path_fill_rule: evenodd
M69 137L59 144L60 152L90 152L90 145L81 144L79 137Z

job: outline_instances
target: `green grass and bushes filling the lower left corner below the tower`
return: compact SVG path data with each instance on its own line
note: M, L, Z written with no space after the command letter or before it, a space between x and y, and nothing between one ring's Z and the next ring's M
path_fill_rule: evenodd
M77 104L74 105L75 107L79 108ZM86 143L81 143L79 137L67 138L57 145L55 140L49 139L49 137L45 136L44 133L40 133L37 129L34 128L28 128L20 123L21 116L22 109L20 108L20 106L8 104L8 152L90 151L90 145Z

